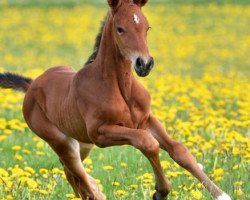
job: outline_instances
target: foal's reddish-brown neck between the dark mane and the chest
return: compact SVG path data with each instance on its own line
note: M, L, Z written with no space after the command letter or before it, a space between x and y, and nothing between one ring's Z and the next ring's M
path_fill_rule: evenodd
M100 48L96 57L97 71L112 89L120 90L127 101L131 95L133 74L131 62L126 60L116 45L113 35L112 14L109 13L103 29Z

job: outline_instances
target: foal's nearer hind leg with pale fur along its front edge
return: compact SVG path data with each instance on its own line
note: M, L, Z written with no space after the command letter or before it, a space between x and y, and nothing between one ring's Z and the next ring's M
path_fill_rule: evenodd
M91 181L81 162L80 145L75 139L64 135L44 115L40 107L35 104L30 113L25 115L29 127L56 152L67 169L69 182L82 199L103 200L99 193L92 189Z

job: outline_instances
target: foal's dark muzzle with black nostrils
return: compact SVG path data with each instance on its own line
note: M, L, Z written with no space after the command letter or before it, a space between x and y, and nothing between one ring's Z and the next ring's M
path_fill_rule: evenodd
M154 59L150 59L145 62L141 57L138 57L135 61L134 68L138 76L145 77L149 75L151 69L154 67Z

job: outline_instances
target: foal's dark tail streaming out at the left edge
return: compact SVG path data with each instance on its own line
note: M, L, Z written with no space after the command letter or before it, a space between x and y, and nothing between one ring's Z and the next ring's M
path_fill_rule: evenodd
M26 92L31 83L31 78L9 72L0 73L0 88L11 88L14 90Z

